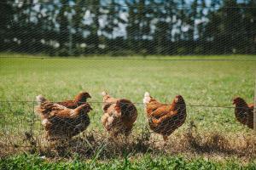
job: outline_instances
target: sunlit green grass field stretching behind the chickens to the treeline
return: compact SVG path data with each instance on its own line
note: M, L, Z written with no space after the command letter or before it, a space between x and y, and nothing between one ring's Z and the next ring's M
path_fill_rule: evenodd
M233 108L206 105L232 107L235 96L253 102L256 56L40 59L1 54L0 57L0 126L5 135L21 134L29 128L27 122L33 116L32 101L36 95L60 101L73 99L80 91L90 92L92 96L90 102L94 110L90 113L88 131L104 133L100 121L102 107L97 103L102 101L103 90L113 97L137 103L139 116L133 133L140 133L148 125L142 105L143 94L148 91L166 103L181 94L188 105L186 123L170 136L171 141L183 135L191 121L200 133L219 132L234 139L241 134L253 135L252 130L236 122ZM7 100L24 102L4 102ZM35 130L40 128L37 122ZM158 139L158 135L152 138Z

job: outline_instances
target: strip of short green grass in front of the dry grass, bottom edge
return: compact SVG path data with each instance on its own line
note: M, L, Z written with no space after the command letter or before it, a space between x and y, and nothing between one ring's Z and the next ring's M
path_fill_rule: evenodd
M123 159L112 159L107 163L102 161L74 160L50 162L39 156L15 156L0 161L2 169L254 169L255 162L242 165L239 161L208 161L204 158L189 160L182 156L142 156L132 160L129 156Z

